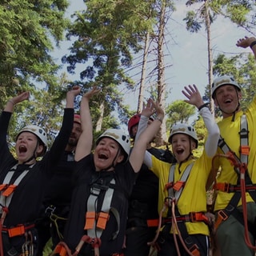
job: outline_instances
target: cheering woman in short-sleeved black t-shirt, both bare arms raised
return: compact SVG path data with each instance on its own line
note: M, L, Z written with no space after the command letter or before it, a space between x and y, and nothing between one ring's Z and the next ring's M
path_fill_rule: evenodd
M157 111L158 118L134 144L130 156L130 137L117 129L106 130L97 139L94 154L91 154L93 128L89 100L97 93L94 88L82 98L82 134L75 152L77 183L64 235L66 244L59 246L55 253L67 245L67 251L77 251L79 255L120 254L126 230L128 197L135 175L142 166L146 145L158 131L159 120L163 118L161 107L150 101L150 112Z

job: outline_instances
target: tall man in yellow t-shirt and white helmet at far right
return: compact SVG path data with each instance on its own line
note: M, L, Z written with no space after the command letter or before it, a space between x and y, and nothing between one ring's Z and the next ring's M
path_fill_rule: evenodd
M256 56L256 38L239 39L237 46L250 46ZM219 141L218 154L228 156L214 161L214 166L221 166L214 204L214 211L218 213L215 222L217 243L225 256L254 255L256 193L255 189L249 190L249 184L256 183L256 98L243 113L239 102L242 98L241 87L230 76L214 80L212 98L223 116L218 122L221 137L224 138ZM246 183L246 191L243 190L243 182Z

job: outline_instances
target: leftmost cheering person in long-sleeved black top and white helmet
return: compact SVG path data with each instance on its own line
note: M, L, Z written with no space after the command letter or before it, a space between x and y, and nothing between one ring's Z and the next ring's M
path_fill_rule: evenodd
M75 87L66 95L66 109L62 129L53 146L46 153L46 132L39 126L26 126L18 132L15 151L10 153L6 142L7 130L14 106L27 100L28 92L11 98L0 117L0 255L36 255L38 233L35 222L42 206L46 182L51 176L50 165L58 163L70 136L74 118ZM37 161L38 157L43 157ZM2 238L2 239L1 239Z

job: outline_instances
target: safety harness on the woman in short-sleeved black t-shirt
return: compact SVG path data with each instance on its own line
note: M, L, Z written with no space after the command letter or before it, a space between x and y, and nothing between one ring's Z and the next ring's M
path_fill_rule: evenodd
M103 230L106 229L106 223L110 218L110 212L114 214L114 218L117 222L117 230L111 235L111 239L115 239L119 233L120 227L120 216L118 210L111 207L111 202L116 189L115 179L113 175L106 178L93 178L93 182L90 184L90 196L87 199L87 212L86 212L86 223L84 230L87 231L87 235L82 236L78 246L76 247L74 254L71 254L70 249L66 246L65 242L59 242L58 246L54 249L54 254L60 254L61 256L66 255L77 255L82 249L84 243L89 243L94 248L94 255L99 255L99 247L101 246L101 236ZM102 200L101 210L98 209L98 197L105 191L104 198ZM119 255L119 254L114 254Z

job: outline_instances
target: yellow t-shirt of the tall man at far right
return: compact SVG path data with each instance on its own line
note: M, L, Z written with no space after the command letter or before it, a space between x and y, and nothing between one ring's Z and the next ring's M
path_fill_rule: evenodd
M221 132L222 138L224 138L226 144L230 147L232 151L240 158L239 148L240 148L240 121L243 112L239 111L235 114L234 122L231 121L232 117L223 118L221 122L218 122L218 127ZM248 158L248 170L250 174L250 178L253 183L256 183L256 133L254 130L256 129L256 97L253 102L251 102L250 106L245 112L246 119L248 122L248 130L249 130L249 146L250 146L250 154ZM254 146L255 145L255 146ZM222 150L218 148L218 154L223 154ZM221 166L221 173L217 178L217 182L226 182L232 185L236 185L238 181L238 175L234 170L234 166L230 165L229 160L226 158L216 158L217 162L214 162L214 166ZM234 193L226 193L222 191L218 191L218 195L215 201L214 210L222 210L227 204L230 202ZM249 194L246 194L246 202L252 202L252 198L250 198ZM241 205L241 200L238 203Z

